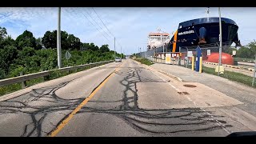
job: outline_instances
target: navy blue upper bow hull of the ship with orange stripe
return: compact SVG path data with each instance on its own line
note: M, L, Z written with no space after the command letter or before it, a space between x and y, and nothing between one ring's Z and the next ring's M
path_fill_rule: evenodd
M232 43L240 46L238 26L229 19L222 18L222 46L227 48ZM198 18L179 23L173 38L167 44L167 51L179 52L180 47L195 49L200 47L218 47L219 18Z

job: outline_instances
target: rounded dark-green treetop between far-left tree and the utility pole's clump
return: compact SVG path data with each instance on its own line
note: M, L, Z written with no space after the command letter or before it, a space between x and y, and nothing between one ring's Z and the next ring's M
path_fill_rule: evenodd
M36 48L35 38L28 30L25 30L23 34L19 35L15 42L18 50L22 50L22 48L25 46Z

